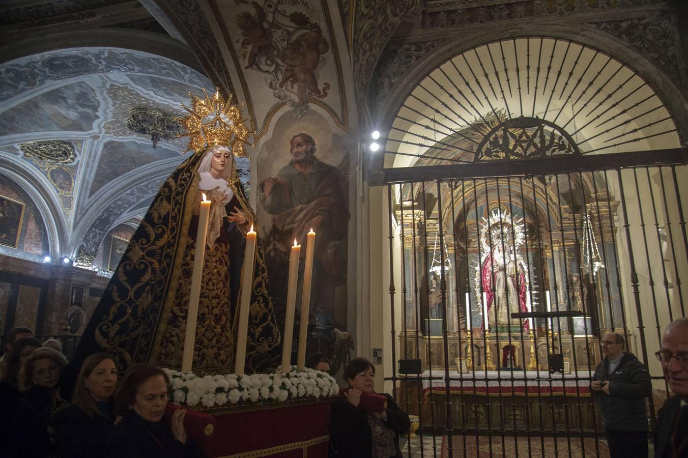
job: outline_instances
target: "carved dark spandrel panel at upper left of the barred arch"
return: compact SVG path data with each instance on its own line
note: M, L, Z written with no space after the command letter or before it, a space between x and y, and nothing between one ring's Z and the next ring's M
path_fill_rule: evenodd
M382 105L383 100L394 83L406 72L406 70L418 61L423 54L433 50L437 45L446 40L419 41L407 43L396 50L386 50L380 56L380 63L375 69L373 77L375 85L375 108Z

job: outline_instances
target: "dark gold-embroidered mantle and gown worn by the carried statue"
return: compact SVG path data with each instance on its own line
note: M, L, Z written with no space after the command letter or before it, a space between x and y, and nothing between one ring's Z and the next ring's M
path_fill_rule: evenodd
M83 360L96 351L114 353L120 373L133 362L180 369L201 199L195 171L203 153L184 161L153 199L67 367L67 386L76 380ZM230 185L235 197L228 208L239 206L255 221L235 171ZM204 373L234 369L237 297L246 239L243 231L228 221L220 232L213 247L206 245L197 320L193 370ZM268 296L260 243L255 261L247 372L276 364L281 338Z

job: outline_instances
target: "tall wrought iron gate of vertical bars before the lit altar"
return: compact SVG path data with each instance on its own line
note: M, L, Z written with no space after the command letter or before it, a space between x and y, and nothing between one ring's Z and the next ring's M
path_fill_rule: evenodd
M686 151L497 159L385 170L392 358L422 364L387 380L420 456L607 456L601 336L648 367L651 431L668 391L654 352L685 316ZM511 316L550 310L569 316Z

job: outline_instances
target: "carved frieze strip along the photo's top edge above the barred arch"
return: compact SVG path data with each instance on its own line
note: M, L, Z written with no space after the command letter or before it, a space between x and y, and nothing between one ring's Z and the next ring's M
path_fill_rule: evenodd
M532 17L570 16L665 3L663 0L426 0L422 28L445 28Z

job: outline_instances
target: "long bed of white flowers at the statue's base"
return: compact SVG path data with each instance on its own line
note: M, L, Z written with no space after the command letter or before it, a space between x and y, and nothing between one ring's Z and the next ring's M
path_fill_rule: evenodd
M247 402L284 402L334 396L339 386L331 375L291 366L289 372L253 375L205 375L164 369L172 385L175 404L204 408L246 404Z

